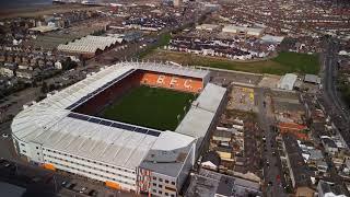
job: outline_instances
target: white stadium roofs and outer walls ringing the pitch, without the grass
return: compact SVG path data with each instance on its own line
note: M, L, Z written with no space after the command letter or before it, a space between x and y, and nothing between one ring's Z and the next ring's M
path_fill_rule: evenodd
M203 89L174 131L73 111L140 70L202 81ZM38 103L23 106L11 125L15 150L45 169L79 174L115 189L178 196L226 93L224 88L209 83L209 76L207 70L151 62L105 67Z

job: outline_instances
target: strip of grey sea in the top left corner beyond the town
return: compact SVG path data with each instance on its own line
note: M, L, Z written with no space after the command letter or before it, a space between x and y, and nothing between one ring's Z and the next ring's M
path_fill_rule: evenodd
M38 7L46 4L52 4L52 0L0 0L0 10Z

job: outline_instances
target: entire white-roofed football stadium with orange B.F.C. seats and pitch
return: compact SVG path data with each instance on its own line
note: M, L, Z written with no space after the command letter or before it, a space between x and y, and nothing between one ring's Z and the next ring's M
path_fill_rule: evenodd
M155 196L178 196L226 90L210 72L119 62L23 106L11 128L28 162Z

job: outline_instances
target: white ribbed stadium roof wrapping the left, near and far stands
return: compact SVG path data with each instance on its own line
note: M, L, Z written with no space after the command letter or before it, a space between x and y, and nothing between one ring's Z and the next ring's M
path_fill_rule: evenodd
M36 142L61 152L128 169L138 166L151 148L171 150L188 146L194 138L183 136L184 140L178 140L180 136L176 132L160 132L71 112L74 107L72 105L78 106L126 77L126 73L142 68L196 77L209 73L166 65L163 65L162 69L160 63L145 62L121 62L106 67L60 92L48 95L39 103L24 107L13 119L13 137L20 141ZM203 114L206 119L212 117L206 115L206 112ZM184 120L189 118L187 116ZM184 127L188 128L186 125ZM199 132L198 129L195 130Z

